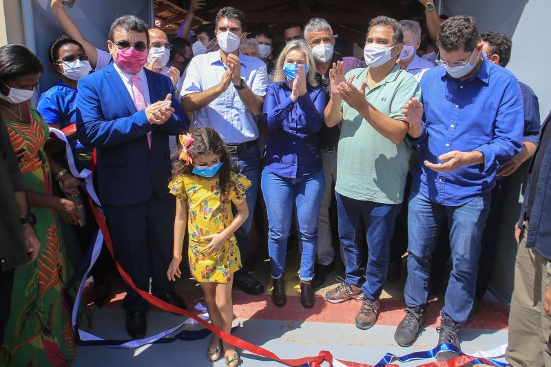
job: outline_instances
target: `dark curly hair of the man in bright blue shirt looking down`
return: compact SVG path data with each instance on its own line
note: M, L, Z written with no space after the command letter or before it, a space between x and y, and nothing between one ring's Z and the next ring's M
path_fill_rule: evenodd
M436 36L439 48L446 52L464 50L471 52L480 41L480 33L475 18L457 15L446 19L440 25Z

